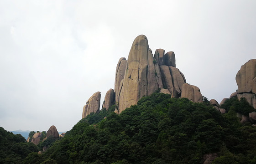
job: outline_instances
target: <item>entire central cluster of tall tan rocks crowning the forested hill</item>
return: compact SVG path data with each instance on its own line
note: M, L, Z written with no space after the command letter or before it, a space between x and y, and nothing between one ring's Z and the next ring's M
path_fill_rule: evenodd
M121 113L125 108L136 104L141 97L156 91L171 94L175 98L182 95L193 102L202 102L200 89L186 83L175 62L173 51L165 53L163 49L157 49L153 55L146 36L137 36L132 43L128 59L122 57L117 63L115 88L106 93L102 108L108 110L115 104L115 112ZM91 112L99 112L100 96L94 99L92 97L84 106L82 118Z

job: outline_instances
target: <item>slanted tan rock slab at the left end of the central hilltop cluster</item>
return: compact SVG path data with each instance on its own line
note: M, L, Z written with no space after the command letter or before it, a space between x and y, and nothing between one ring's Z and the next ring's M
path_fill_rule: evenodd
M86 102L86 105L83 108L82 118L85 118L90 113L99 113L100 107L100 92L94 93L89 100Z

